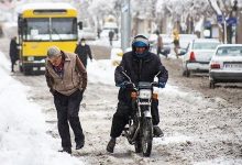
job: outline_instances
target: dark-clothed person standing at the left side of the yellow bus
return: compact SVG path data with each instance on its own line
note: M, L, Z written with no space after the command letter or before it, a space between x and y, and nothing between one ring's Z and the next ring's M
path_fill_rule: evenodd
M14 73L14 65L19 59L19 50L16 44L16 36L13 36L10 42L9 56L11 59L11 72Z

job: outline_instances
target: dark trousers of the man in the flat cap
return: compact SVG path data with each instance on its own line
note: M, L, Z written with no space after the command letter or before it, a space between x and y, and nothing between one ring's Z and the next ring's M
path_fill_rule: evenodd
M82 91L79 89L70 96L64 96L59 92L54 94L54 103L58 119L58 132L62 138L63 147L72 147L69 124L75 134L75 142L78 143L84 140L84 133L78 117L81 100Z

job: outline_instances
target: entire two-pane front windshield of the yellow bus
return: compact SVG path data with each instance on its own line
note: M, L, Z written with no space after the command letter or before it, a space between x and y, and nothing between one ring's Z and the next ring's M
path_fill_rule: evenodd
M24 41L76 41L75 18L25 19Z

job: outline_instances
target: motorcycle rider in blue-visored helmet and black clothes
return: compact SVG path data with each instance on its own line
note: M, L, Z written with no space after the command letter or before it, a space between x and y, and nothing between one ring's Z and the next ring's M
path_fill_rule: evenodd
M107 145L107 151L110 153L113 153L116 139L121 135L132 113L131 90L125 88L128 79L122 72L124 72L135 85L138 85L139 81L153 82L155 76L157 76L158 87L164 88L168 79L168 73L162 65L161 59L157 55L148 52L148 40L144 35L136 35L132 41L132 51L123 54L121 64L116 68L116 85L120 87L120 90L117 112L112 118L111 140ZM158 100L152 100L151 113L155 136L163 136L162 130L157 127L160 123Z

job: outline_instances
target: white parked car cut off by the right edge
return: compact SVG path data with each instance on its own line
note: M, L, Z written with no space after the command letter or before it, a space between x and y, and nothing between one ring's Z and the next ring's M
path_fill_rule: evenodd
M219 45L209 66L210 88L217 82L242 82L242 44Z

